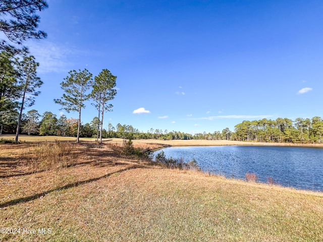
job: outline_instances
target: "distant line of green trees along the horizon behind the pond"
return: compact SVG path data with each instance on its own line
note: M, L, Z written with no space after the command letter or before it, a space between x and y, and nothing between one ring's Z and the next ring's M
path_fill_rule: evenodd
M19 112L17 110L2 112L0 120L0 134L15 133ZM100 119L94 117L90 123L81 124L80 137L97 138L100 132ZM32 109L23 114L21 118L20 134L40 136L70 136L77 137L78 119L67 118L65 115L57 117L56 114L46 111L42 115ZM162 129L139 131L131 125L117 124L115 127L109 123L101 131L102 138L122 139L157 139L157 140L233 140L267 143L294 143L312 144L321 143L323 135L323 119L315 116L309 118L259 119L248 121L235 126L234 131L229 128L213 133L188 134L180 131Z

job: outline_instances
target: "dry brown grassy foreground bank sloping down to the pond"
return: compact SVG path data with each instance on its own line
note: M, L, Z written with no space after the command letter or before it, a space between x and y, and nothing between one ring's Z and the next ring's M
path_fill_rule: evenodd
M0 241L323 240L323 193L166 169L118 149L0 145Z

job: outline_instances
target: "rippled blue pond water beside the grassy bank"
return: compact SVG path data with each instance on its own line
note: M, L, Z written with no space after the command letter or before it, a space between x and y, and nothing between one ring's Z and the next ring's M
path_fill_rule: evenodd
M323 148L199 146L163 150L168 158L183 158L185 162L194 158L203 171L212 174L245 179L249 172L262 183L272 177L281 186L323 192Z

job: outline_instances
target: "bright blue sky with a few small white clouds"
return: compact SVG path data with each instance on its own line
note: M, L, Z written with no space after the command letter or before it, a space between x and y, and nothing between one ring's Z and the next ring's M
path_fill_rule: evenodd
M118 77L104 127L194 134L234 130L243 120L323 116L320 0L47 2L39 29L48 38L25 42L44 82L26 112L59 117L60 83L86 68ZM86 103L82 122L96 114Z

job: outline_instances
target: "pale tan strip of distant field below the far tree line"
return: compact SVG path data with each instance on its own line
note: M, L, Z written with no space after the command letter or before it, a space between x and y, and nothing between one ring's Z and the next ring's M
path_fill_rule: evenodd
M0 138L13 140L15 135L0 135ZM60 137L60 136L28 136L20 135L21 142L42 142L42 141L76 141L75 137ZM111 138L102 139L104 143L122 144L123 139ZM95 141L94 138L80 138L80 141ZM134 144L163 144L170 146L218 146L218 145L275 145L275 146L309 146L323 147L323 144L291 144L291 143L260 143L260 142L245 142L245 141L230 141L230 140L133 140Z

